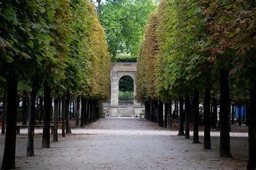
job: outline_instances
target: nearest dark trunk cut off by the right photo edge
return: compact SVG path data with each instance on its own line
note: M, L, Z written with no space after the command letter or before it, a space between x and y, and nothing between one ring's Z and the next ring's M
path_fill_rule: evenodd
M256 84L254 82L254 84ZM247 169L256 169L256 87L250 89L250 111L247 112L248 118L248 148L249 159Z

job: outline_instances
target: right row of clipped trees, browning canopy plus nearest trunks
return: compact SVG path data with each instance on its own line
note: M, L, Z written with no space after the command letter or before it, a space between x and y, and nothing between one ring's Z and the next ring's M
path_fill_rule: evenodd
M153 91L163 101L178 97L183 100L186 96L189 103L199 91L204 98L205 137L210 138L211 94L219 96L220 157L231 157L227 126L230 93L231 102L248 104L250 91L251 107L254 106L255 1L163 0L158 12L158 27L147 31L147 26L138 55L137 100L152 99ZM159 46L155 49L152 42L146 41L154 34ZM154 53L150 53L149 45ZM156 59L150 58L151 54ZM252 119L255 122L254 116ZM251 128L255 132L255 126L251 124ZM254 144L249 142L249 147L255 151L255 135L249 130L250 135ZM250 154L248 167L255 167Z

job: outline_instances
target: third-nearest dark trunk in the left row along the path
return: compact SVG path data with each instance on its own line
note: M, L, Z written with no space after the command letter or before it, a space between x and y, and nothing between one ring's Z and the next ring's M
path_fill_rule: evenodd
M44 83L44 115L42 148L50 147L51 88Z

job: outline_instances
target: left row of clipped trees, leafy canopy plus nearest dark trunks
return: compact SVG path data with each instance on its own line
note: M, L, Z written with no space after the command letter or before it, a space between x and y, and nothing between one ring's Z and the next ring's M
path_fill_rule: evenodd
M0 98L7 91L2 168L10 169L15 168L17 94L30 96L27 155L32 156L36 97L44 96L42 147L50 147L51 97L56 103L63 96L67 103L62 110L69 110L70 94L107 100L110 55L95 6L89 1L4 1L0 20ZM63 113L68 133L69 114Z

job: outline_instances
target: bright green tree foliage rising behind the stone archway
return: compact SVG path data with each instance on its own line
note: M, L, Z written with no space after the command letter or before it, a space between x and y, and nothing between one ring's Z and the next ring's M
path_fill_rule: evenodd
M137 55L143 38L144 26L150 12L156 9L152 0L106 1L100 6L100 23L103 25L110 54Z

